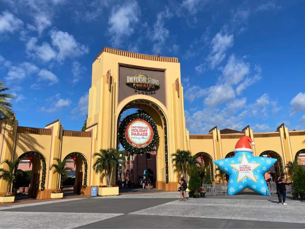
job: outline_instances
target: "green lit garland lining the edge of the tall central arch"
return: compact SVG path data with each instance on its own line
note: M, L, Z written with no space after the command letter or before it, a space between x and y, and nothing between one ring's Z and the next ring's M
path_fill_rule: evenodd
M152 103L151 101L148 100L135 100L132 101L128 104L126 104L123 109L120 111L120 114L117 118L117 133L119 133L119 129L120 129L120 118L123 115L123 112L126 111L127 109L133 108L132 106L134 106L135 104L147 104L150 105L152 107L154 107L161 115L162 119L163 119L163 124L164 124L164 153L165 153L165 183L168 183L168 150L167 150L167 121L165 118L165 115L163 114L162 110L160 109L160 107L158 107L156 104ZM117 139L119 138L119 134L117 136ZM117 150L120 150L120 140L117 140ZM116 174L117 176L117 174Z

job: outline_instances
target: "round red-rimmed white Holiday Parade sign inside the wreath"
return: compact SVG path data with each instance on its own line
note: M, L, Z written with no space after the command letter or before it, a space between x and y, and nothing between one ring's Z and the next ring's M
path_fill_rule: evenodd
M128 123L125 129L125 138L133 147L145 147L152 141L152 126L144 119L136 118Z

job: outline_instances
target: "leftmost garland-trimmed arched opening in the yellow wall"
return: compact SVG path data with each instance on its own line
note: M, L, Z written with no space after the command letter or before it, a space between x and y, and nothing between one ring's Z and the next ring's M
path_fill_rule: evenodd
M36 198L39 190L45 190L45 158L38 152L30 151L20 155L18 159L19 162L16 164L15 169L16 171L20 169L21 177L16 175L13 189L15 189L16 193L20 193L19 195L24 194L23 196Z

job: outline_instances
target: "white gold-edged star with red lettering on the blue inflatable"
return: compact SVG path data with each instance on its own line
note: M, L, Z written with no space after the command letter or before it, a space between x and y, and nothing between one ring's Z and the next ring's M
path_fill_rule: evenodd
M260 166L260 164L249 163L245 154L242 155L242 160L239 164L231 164L230 166L238 171L237 182L241 181L245 177L257 182L253 170Z

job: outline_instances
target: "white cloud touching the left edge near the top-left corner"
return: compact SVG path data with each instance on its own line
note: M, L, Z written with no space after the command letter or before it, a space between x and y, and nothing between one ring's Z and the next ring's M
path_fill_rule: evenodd
M4 11L0 14L0 33L10 32L13 33L23 26L22 20L15 17L9 11Z

